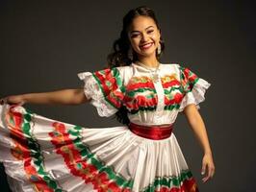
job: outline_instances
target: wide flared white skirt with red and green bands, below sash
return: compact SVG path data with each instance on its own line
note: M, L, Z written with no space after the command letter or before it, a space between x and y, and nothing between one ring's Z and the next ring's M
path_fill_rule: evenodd
M82 128L20 106L0 106L0 161L17 192L195 192L175 135L126 126Z

